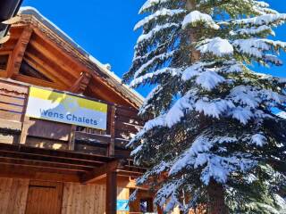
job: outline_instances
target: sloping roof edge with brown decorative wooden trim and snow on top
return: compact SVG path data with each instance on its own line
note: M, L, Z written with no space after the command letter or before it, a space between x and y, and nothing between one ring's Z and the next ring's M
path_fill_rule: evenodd
M122 84L122 79L119 78L114 72L107 69L107 66L97 61L95 57L86 52L80 45L76 44L71 37L67 36L63 30L55 26L55 24L47 20L40 12L32 7L21 7L21 22L24 24L33 25L39 30L48 30L47 35L53 37L56 44L61 44L60 47L63 51L71 54L72 57L77 59L81 64L86 66L90 72L102 78L108 86L114 88L114 92L124 97L136 108L143 103L143 97L139 95L130 86ZM41 29L45 27L45 29ZM64 50L68 48L68 50Z

